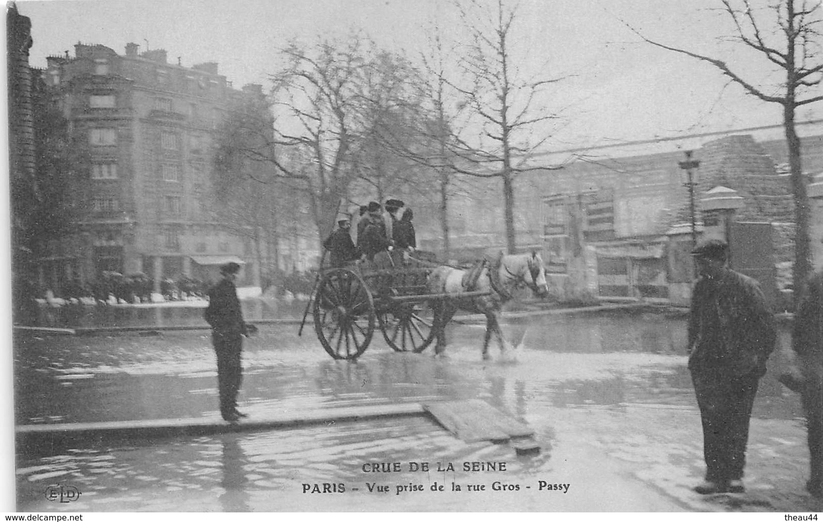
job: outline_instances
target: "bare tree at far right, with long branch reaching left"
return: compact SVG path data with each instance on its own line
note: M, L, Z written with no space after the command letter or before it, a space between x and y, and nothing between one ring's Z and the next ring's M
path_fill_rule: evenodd
M750 0L720 0L723 12L735 27L732 41L762 55L768 66L785 75L780 94L774 94L774 85L746 79L728 63L719 58L694 53L661 44L630 29L649 44L706 62L734 84L740 85L746 94L765 102L783 106L783 128L788 146L788 162L791 171L795 211L793 285L795 300L811 271L809 239L809 205L807 180L802 175L800 139L795 129L795 113L798 107L823 100L819 85L823 80L823 36L821 36L820 0L775 0L768 7L756 7ZM797 301L795 301L797 302Z

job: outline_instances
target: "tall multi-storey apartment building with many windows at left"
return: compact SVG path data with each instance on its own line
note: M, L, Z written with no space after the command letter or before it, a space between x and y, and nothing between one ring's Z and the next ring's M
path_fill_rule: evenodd
M216 266L237 261L247 265L241 283L259 284L249 246L210 220L203 196L226 110L262 87L235 90L217 63L184 67L164 49L74 47L74 57L49 57L43 77L79 137L80 168L67 175L81 217L41 263L41 283L58 290L109 270L144 273L159 288L161 279L214 279Z

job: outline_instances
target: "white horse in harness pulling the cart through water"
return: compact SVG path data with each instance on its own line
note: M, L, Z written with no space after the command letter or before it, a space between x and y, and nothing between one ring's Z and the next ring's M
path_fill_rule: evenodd
M477 270L477 269L473 269ZM472 280L473 279L473 280ZM513 298L515 289L528 286L532 292L543 297L548 293L546 269L537 252L531 254L501 255L495 263L486 262L480 273L459 270L450 266L439 266L432 270L428 280L429 293L454 294L454 298L432 299L434 311L432 329L437 336L435 355L443 353L446 348L445 328L452 320L454 312L482 313L486 316L486 338L483 341L483 358L489 358L489 341L491 334L497 337L500 353L505 351L505 340L500 330L500 307ZM458 297L460 293L479 291L487 295L477 297Z

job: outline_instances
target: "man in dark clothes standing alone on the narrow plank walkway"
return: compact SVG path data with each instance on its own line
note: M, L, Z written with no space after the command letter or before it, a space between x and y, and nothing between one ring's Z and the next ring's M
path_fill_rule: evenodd
M237 410L237 394L243 381L240 352L243 337L257 328L247 325L240 310L235 279L240 266L235 262L221 266L223 279L209 290L206 322L212 326L212 344L217 355L217 387L220 391L220 413L230 423L236 423L246 413Z

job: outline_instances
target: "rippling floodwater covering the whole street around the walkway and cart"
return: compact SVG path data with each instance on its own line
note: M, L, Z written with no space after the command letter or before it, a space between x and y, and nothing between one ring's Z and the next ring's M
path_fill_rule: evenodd
M174 321L201 324L202 309L182 310L174 312ZM292 307L293 316L301 312ZM136 321L123 317L117 326ZM700 416L683 353L684 317L530 316L506 321L504 333L514 344L522 340L521 347L503 357L492 346L491 361L481 359L483 326L455 323L448 358L432 357L432 349L394 353L375 335L365 354L350 363L329 358L310 323L302 336L294 325L262 326L260 335L244 344L240 409L254 416L479 398L529 423L542 447L537 455L516 455L506 444L460 441L424 417L109 446L90 442L18 455L18 508L795 511L816 506L802 492L807 473L802 410L797 397L776 381L788 361L785 332L756 400L746 468L751 493L742 500L708 501L690 492L704 464ZM207 330L19 337L15 352L17 423L218 417ZM472 462L484 469L463 468ZM400 470L391 463L400 463ZM410 463L421 468L428 463L429 469ZM489 470L486 463L504 463L504 469L498 464ZM371 464L379 470L370 471ZM53 484L77 487L81 497L71 504L49 502L44 490Z

